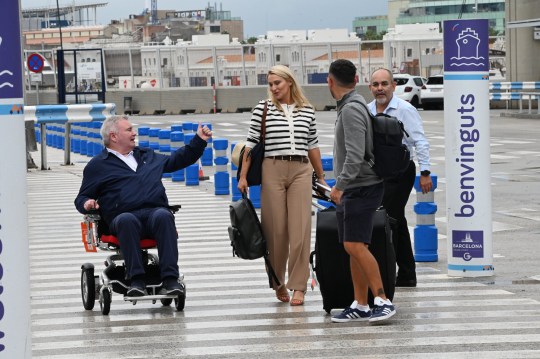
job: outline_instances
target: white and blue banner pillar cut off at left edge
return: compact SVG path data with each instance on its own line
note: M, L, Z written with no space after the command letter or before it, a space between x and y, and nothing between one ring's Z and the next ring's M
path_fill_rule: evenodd
M0 4L0 358L32 356L20 0Z

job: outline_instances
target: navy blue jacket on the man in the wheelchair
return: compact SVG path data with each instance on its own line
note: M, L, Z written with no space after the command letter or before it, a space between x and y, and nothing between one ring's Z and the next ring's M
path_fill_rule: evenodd
M135 147L137 171L104 149L88 162L83 172L75 207L87 214L84 203L96 199L101 216L107 223L120 213L139 208L166 207L169 200L161 182L163 173L178 171L195 163L203 154L206 141L199 136L171 156L149 148Z

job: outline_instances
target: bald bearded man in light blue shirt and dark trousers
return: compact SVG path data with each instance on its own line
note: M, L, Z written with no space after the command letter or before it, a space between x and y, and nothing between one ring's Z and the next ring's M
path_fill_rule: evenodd
M420 187L423 193L431 191L433 183L429 171L429 143L424 135L420 114L410 103L394 96L396 83L392 72L379 69L371 76L369 88L375 100L368 104L372 114L385 113L403 122L409 137L404 136L404 143L411 152L411 162L400 176L384 181L382 205L388 215L397 220L397 228L392 239L396 251L398 274L397 287L416 287L416 263L411 246L411 236L405 218L405 206L411 194L416 178L414 155L420 166ZM414 148L414 152L413 152Z

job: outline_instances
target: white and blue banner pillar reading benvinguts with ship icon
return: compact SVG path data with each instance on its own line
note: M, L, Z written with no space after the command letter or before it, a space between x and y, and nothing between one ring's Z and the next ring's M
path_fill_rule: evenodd
M448 274L491 276L487 20L444 22Z

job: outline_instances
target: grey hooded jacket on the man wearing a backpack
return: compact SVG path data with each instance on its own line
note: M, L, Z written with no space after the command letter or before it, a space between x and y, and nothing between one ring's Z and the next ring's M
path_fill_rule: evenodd
M373 154L373 128L364 98L353 90L337 101L334 129L334 176L336 188L371 186L382 182L364 160Z

